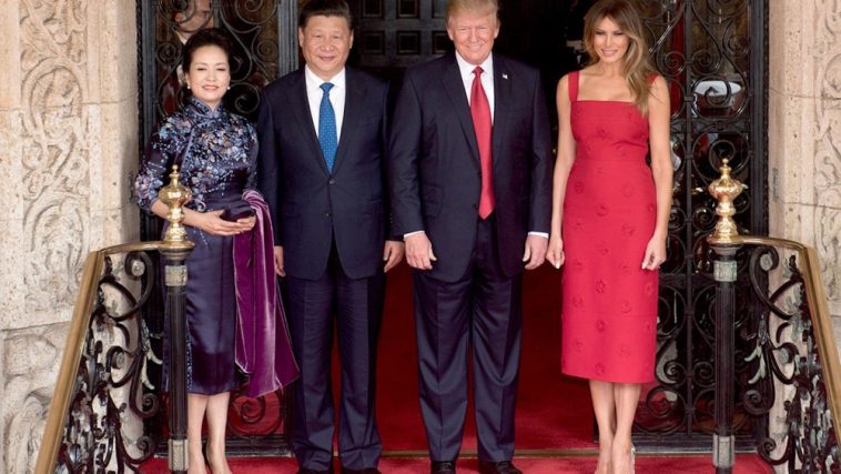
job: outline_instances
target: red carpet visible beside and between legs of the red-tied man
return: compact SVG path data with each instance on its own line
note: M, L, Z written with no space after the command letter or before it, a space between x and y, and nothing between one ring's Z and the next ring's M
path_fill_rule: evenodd
M418 451L426 448L426 437L417 400L412 275L405 264L393 272L379 343L377 422L386 452ZM560 375L559 289L559 273L548 265L526 274L516 420L521 450L595 447L587 384ZM475 450L470 410L463 451Z

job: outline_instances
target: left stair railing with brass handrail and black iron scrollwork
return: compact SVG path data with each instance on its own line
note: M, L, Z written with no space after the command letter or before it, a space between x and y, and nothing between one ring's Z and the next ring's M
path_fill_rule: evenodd
M156 286L152 252L160 243L88 255L37 473L136 471L153 454L142 420L160 411L161 399L142 386L160 359L140 309Z

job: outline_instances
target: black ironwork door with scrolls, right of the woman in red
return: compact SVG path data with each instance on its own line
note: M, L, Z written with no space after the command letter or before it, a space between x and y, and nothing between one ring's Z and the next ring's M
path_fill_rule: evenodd
M739 232L764 234L767 183L763 98L758 87L767 58L757 39L767 24L762 0L641 0L651 58L666 79L671 103L672 154L679 160L672 186L667 261L660 269L657 379L637 410L635 441L650 448L668 442L707 448L712 433L710 366L715 360L715 252L707 242L717 223L717 203L706 189L723 160L749 189L732 203ZM738 272L748 256L736 254ZM680 297L676 297L680 295ZM737 285L737 357L754 350L750 290ZM678 319L679 321L676 321ZM750 393L756 359L734 367L737 443L752 445L751 411L763 404ZM668 405L665 407L663 405ZM754 410L756 409L756 410ZM676 416L668 423L662 416ZM657 422L653 422L653 421ZM666 431L661 427L667 426ZM677 426L677 427L676 427ZM657 447L656 447L657 446Z

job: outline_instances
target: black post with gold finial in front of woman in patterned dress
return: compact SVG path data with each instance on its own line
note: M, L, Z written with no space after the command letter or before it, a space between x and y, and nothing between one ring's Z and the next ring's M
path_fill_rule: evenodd
M190 190L179 183L178 165L172 167L170 184L159 192L161 201L170 208L169 229L161 244L164 256L164 285L170 319L170 441L169 467L173 473L185 473L190 455L186 444L186 260L193 242L186 239L182 206L190 200Z

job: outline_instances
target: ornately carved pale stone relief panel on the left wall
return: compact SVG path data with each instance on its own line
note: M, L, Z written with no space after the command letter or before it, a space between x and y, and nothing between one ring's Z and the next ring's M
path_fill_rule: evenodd
M88 251L89 117L83 0L20 3L26 309L72 306ZM93 78L98 80L99 78Z

